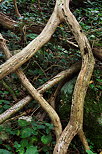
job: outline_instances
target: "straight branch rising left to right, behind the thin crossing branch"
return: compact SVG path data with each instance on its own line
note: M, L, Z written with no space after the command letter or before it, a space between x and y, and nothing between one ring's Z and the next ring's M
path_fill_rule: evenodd
M47 81L45 84L43 84L41 87L37 89L37 91L40 94L43 94L45 91L59 83L64 78L70 78L73 76L73 74L76 74L79 72L81 68L81 62L76 63L72 65L69 69L62 71L49 81ZM21 110L25 105L27 105L32 100L32 97L30 95L24 97L22 100L20 100L18 103L13 105L11 108L6 110L4 113L0 114L0 124L3 123L5 120L7 120L9 117L11 117L13 114L17 113L19 110Z

